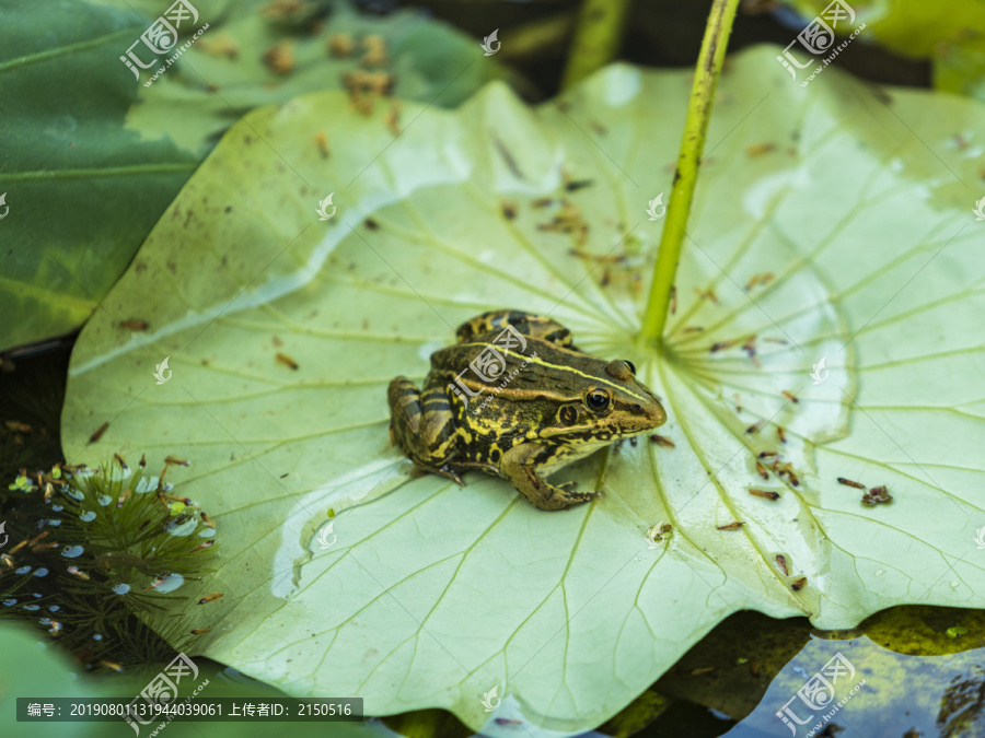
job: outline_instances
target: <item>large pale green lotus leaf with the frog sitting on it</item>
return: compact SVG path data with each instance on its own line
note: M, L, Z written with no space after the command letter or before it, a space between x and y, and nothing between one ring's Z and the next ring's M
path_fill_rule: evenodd
M985 110L885 102L834 69L802 89L775 56L722 80L663 359L635 344L634 278L673 227L645 209L670 189L687 72L616 66L536 109L494 84L456 113L407 105L395 142L379 116L310 95L223 138L107 300L157 328L86 326L62 423L69 458L193 460L171 481L224 530L201 587L225 597L194 612L213 625L207 655L370 714L566 733L739 609L835 628L981 604L985 226L964 184L981 161L945 142ZM328 161L305 153L321 128L348 142ZM588 231L558 232L573 208ZM636 362L675 447L625 446L605 494L561 513L480 475L407 476L387 382L422 378L459 321L502 306ZM760 477L770 453L796 487ZM558 478L593 488L602 461ZM838 477L895 500L866 507Z

